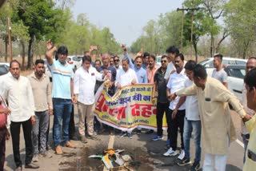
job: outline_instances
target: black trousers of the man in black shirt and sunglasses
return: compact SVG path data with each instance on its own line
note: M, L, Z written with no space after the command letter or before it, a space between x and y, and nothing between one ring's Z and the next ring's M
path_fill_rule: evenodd
M161 103L158 102L157 104L157 125L158 125L158 136L162 136L162 118L163 118L163 114L166 113L166 121L167 121L167 125L170 125L170 117L168 117L168 109L169 109L169 105L170 102L167 103ZM170 130L169 130L169 126L167 128L167 133L168 133L168 139L170 138Z

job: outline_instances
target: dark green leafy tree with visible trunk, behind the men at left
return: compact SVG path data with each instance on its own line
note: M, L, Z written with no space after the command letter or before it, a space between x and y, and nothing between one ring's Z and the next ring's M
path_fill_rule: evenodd
M19 2L13 21L21 20L28 27L30 37L27 53L28 69L33 62L32 46L34 41L46 41L49 38L56 41L65 25L65 22L62 21L62 16L62 10L54 9L54 2L51 0L26 0Z

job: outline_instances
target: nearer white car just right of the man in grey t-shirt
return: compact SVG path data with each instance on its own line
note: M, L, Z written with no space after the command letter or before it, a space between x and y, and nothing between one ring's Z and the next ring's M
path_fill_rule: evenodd
M239 101L242 101L243 78L246 76L246 66L228 65L224 68L227 74L228 88Z

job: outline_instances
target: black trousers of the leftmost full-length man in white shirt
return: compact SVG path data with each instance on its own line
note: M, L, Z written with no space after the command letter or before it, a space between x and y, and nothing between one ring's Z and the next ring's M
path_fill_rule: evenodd
M18 121L18 122L11 121L10 134L13 141L14 161L17 167L22 166L22 161L19 153L19 134L21 130L21 125L23 129L23 135L24 135L25 146L26 146L25 163L29 164L32 161L32 157L33 157L33 146L32 146L32 139L31 139L31 130L32 130L31 118L27 121Z

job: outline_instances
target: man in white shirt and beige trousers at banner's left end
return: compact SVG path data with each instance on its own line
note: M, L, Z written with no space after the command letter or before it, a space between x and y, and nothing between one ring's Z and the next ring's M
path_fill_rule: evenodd
M102 78L107 74L107 72L103 74L98 73L90 64L90 56L84 56L82 58L82 67L74 74L74 102L78 102L79 133L81 141L84 143L86 143L85 117L87 122L87 138L96 138L94 136L94 87L96 80L102 81Z

